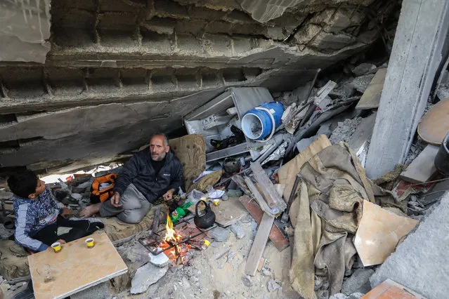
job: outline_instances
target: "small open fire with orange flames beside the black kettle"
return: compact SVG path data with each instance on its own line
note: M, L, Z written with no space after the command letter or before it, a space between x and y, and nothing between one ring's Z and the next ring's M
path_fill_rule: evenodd
M176 232L173 229L173 222L171 222L170 216L167 214L167 224L165 225L165 237L162 239L162 242L159 244L159 247L163 249L169 248L170 246L177 244L180 241L183 241L183 235ZM176 262L183 263L184 255L188 252L191 246L189 244L183 243L174 246L174 248L170 248L167 251L164 251L167 258L170 260L176 260ZM179 259L179 260L178 260Z

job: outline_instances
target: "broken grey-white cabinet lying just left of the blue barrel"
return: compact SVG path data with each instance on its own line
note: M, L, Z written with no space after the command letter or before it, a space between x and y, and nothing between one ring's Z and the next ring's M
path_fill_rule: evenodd
M227 88L224 93L207 102L202 107L190 112L184 117L184 123L189 134L199 133L206 140L206 161L215 161L225 157L249 152L253 160L257 159L261 152L254 147L261 147L265 142L255 142L245 136L245 142L223 150L214 151L210 140L221 140L230 134L227 127L234 124L241 127L240 121L243 115L250 109L264 102L273 102L271 93L263 87ZM234 109L235 108L235 109ZM228 111L228 112L226 112ZM233 113L230 117L228 113ZM231 121L231 119L233 119Z

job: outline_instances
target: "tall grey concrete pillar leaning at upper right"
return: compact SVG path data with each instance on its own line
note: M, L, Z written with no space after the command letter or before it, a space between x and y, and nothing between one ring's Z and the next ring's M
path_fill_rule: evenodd
M449 1L403 1L366 173L378 178L403 163L424 114L449 29Z

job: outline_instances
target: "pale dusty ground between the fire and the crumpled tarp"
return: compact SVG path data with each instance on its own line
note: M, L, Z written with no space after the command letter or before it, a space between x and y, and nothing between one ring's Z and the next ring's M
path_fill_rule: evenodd
M145 293L131 295L129 290L115 294L118 298L297 298L289 284L289 248L279 252L271 241L263 253L266 259L254 277L245 274L245 263L256 232L256 222L247 216L237 222L245 237L237 239L230 232L224 242L213 241L208 248L191 249L185 265L171 263L169 270ZM230 231L229 227L228 230ZM141 252L134 243L119 252L129 262L129 252ZM136 249L139 248L139 249ZM224 253L223 255L221 253ZM220 257L221 255L221 257ZM131 257L132 259L132 257Z

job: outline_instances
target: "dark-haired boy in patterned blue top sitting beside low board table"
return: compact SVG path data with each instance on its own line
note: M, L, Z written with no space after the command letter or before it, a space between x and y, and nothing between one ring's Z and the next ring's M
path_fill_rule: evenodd
M14 193L15 242L30 251L44 251L56 241L64 244L104 227L98 220L65 219L72 210L59 208L45 182L32 171L11 175L8 187ZM70 228L70 231L58 235L60 227Z

